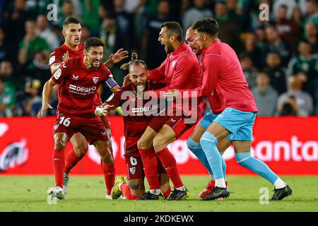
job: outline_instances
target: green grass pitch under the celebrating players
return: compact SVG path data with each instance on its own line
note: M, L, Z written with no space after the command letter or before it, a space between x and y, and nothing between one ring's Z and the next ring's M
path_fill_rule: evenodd
M283 201L261 204L262 187L273 186L261 177L229 176L230 198L223 201L200 201L208 177L182 176L191 196L184 201L106 200L102 176L73 176L65 200L47 203L47 188L53 176L1 176L0 211L318 211L318 177L282 177L293 189L293 196ZM148 185L146 186L148 189Z

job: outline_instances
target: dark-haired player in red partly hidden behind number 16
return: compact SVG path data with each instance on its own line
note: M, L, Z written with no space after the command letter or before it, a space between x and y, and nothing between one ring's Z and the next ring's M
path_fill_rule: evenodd
M78 19L73 17L68 17L64 20L62 34L65 37L64 44L61 47L54 49L54 52L49 57L49 68L51 69L52 75L59 69L62 63L74 57L83 57L84 45L80 42L81 40L81 23ZM114 64L117 64L122 59L125 59L128 52L119 49L119 51L110 56L110 59L105 63L108 69L110 69ZM112 86L112 91L114 92L119 88L118 85L114 85L116 82L110 78L107 85ZM95 95L96 106L101 105L100 95L96 93ZM107 116L101 117L108 136L111 136L110 121ZM73 150L70 150L66 154L65 169L64 169L64 181L63 189L66 193L67 186L69 183L69 172L71 169L80 161L88 151L88 145L85 137L81 133L75 133L71 137L71 143L73 145ZM112 146L111 146L112 151ZM106 198L109 198L112 186L114 186L115 169L114 165L107 166L101 161L102 172L105 177L105 184L107 187Z

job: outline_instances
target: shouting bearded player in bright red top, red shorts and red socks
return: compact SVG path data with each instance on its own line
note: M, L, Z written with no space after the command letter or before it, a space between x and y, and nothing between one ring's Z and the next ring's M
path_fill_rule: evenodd
M191 89L201 85L199 62L192 49L182 40L182 35L182 28L177 22L166 22L161 25L158 41L165 45L167 58L158 69L151 70L149 75L150 81L165 81L167 85L165 88L155 90L158 97L165 90ZM154 131L148 126L138 141L139 153L150 186L150 193L146 193L142 199L150 199L151 196L160 194L160 184L157 177L158 159L167 170L175 188L166 200L180 200L189 196L189 192L184 187L179 175L175 157L167 149L169 143L182 136L187 129L196 123L197 117L204 111L204 99L199 100L192 109L187 107L188 111L184 105L173 102L173 115L169 119L166 121L161 121L162 117L154 119L158 120L158 124L164 124L163 128L160 131ZM183 111L182 115L175 114L179 110ZM185 117L186 113L193 117L192 122L188 123L187 119L189 118Z

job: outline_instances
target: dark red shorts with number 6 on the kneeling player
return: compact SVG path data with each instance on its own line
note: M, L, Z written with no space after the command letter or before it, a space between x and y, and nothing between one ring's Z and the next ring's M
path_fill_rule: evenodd
M139 154L139 150L126 150L125 161L127 165L127 178L128 179L143 179L145 177L145 172L143 171L143 162ZM163 164L158 159L158 174L167 174Z

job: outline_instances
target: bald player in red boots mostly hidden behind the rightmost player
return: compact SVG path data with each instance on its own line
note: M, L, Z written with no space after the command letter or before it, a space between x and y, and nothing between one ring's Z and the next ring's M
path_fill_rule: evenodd
M202 58L204 58L204 53L201 54L202 49L199 46L198 42L196 42L194 32L195 32L194 29L189 28L187 30L185 39L188 42L189 47L191 47L192 51L196 54L196 57L198 57L199 63L201 65ZM205 51L206 51L206 49L203 49L203 52L205 52ZM208 129L208 126L212 123L212 121L214 121L214 119L216 119L218 114L223 112L223 110L221 109L220 100L218 99L218 95L216 92L211 97L208 97L207 100L211 106L211 110L199 121L199 124L196 125L194 131L192 132L191 136L189 136L189 138L187 140L187 146L188 146L189 150L191 150L192 153L194 153L194 155L196 155L196 157L200 160L200 162L208 170L208 174L210 174L211 180L210 180L210 182L208 182L206 188L203 191L201 191L201 193L199 194L200 198L204 198L204 197L206 197L206 195L210 194L211 191L213 191L215 184L216 184L212 169L211 169L210 165L208 165L208 159L206 158L206 154L202 150L202 147L200 144L200 138L203 135L203 133L206 131L206 129ZM218 144L216 146L217 146L218 150L220 151L221 157L222 157L223 153L225 152L225 150L228 149L228 147L230 147L231 144L232 144L232 141L230 140L230 135L228 135L222 141L218 142ZM222 160L223 174L224 174L224 178L225 178L226 164L225 164L225 161L223 158L221 158L221 160ZM226 183L226 186L228 186L228 182L225 181L225 183Z

